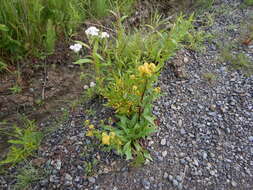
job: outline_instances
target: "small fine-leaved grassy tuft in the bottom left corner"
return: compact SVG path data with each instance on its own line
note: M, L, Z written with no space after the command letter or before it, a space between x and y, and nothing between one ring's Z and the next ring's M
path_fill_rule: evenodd
M27 163L23 168L19 169L18 175L16 176L17 183L14 189L24 190L31 188L32 184L44 179L46 175L44 170L37 169L30 163Z

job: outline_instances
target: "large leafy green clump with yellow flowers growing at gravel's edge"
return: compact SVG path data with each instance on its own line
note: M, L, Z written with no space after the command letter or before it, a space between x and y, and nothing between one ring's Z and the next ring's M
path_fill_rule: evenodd
M127 160L134 159L134 165L139 165L151 160L140 141L155 131L152 104L160 88L154 84L165 61L193 30L193 15L188 19L179 16L169 30L158 29L166 22L155 17L152 24L133 32L124 28L125 17L114 15L117 18L115 34L102 38L103 32L94 28L94 33L86 33L89 43L81 44L89 49L90 55L75 63L92 63L97 93L107 99L106 105L114 108L119 121L103 125L102 131L89 125L86 135L95 136L101 144L117 150Z

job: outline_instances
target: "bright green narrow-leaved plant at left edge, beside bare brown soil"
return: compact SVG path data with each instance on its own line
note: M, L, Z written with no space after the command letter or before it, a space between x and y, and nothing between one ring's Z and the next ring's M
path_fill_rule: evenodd
M14 126L12 137L8 143L11 144L7 158L0 162L2 164L16 164L31 156L36 151L42 140L42 133L37 131L34 121L24 119L24 128Z

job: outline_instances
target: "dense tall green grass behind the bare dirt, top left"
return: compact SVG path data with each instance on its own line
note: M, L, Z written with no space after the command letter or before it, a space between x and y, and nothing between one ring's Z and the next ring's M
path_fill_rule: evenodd
M57 34L70 33L84 18L85 0L1 0L0 56L19 58L53 49ZM50 35L51 34L51 35ZM55 35L56 37L56 35Z

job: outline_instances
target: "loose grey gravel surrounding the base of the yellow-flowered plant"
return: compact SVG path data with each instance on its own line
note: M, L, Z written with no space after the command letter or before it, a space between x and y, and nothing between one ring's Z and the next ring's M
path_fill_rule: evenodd
M239 9L240 3L217 1L210 11L214 24L206 31L218 35L205 44L206 51L182 50L181 57L166 64L159 80L164 95L154 107L160 124L146 143L153 162L133 168L85 136L86 119L98 126L112 116L95 99L45 139L38 157L46 160L41 167L49 174L31 189L252 189L253 77L218 61L218 44L240 38L240 25L252 14L252 7ZM253 60L252 49L240 51ZM187 78L175 76L170 63L178 59L185 63ZM209 72L215 81L203 77ZM87 108L96 114L85 113ZM0 189L13 189L14 183L10 175L0 176Z

